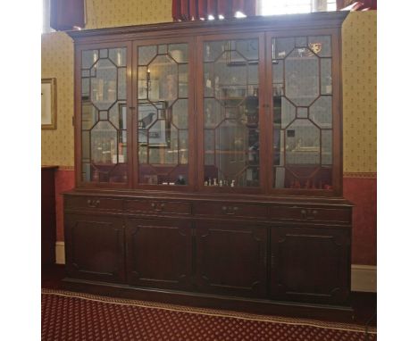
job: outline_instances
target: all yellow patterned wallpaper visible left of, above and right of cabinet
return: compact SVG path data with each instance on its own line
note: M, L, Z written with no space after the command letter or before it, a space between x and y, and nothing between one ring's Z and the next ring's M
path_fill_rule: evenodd
M171 0L87 0L87 28L171 21ZM344 172L376 171L375 11L343 25ZM57 129L42 130L42 164L73 166L73 48L63 32L42 36L42 78L57 81Z

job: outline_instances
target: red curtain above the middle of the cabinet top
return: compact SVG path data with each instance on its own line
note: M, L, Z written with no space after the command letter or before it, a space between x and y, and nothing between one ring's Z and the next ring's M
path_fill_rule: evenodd
M247 17L255 15L255 0L172 0L172 19L174 21L207 20L213 18L233 18L236 12Z

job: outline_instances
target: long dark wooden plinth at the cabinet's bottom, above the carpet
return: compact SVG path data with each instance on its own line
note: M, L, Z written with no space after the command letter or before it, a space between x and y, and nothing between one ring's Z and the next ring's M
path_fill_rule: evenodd
M332 320L340 322L354 319L354 310L349 304L335 306L280 302L265 299L207 295L195 292L161 290L145 287L130 287L128 285L70 278L63 279L63 286L67 290L79 291L92 295L116 296L164 304L194 306L198 308L307 319L329 319L331 316Z

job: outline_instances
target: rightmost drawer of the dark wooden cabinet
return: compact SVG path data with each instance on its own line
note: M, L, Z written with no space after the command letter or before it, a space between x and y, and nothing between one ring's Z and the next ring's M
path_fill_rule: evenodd
M273 220L308 220L351 222L351 210L343 208L318 208L307 206L272 206L270 217Z

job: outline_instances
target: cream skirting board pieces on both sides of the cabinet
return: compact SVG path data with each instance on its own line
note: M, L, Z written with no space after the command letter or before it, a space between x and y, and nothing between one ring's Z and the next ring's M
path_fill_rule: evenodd
M55 243L55 262L65 264L64 242ZM375 265L351 265L351 291L377 292L377 267Z

